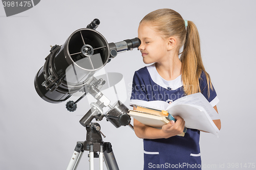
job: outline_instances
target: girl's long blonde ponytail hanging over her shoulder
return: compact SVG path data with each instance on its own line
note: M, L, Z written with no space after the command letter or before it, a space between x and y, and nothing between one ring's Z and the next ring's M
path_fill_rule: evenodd
M204 71L209 96L212 85L201 58L199 33L194 22L187 21L187 23L185 43L180 57L184 92L187 95L201 92L199 79L201 79L202 71Z

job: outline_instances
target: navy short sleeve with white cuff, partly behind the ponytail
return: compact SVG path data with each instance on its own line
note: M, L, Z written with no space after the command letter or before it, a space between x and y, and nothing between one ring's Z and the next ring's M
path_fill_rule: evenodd
M211 104L211 106L212 107L216 106L217 103L219 102L217 93L212 84L211 84L212 89L208 88L207 79L206 79L204 71L202 71L201 78L199 79L199 85L200 85L201 93L205 96L205 98L208 100L208 102ZM208 93L208 89L209 89L209 93Z

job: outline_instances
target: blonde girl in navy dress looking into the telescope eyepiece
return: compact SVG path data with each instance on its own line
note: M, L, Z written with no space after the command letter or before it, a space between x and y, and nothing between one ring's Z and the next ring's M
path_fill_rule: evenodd
M174 10L159 9L140 21L138 38L143 62L154 64L135 71L131 100L171 102L201 92L217 111L219 100L204 69L199 34L192 21L184 20ZM177 136L185 122L180 116L175 118L176 122L162 129L134 119L135 133L143 138L144 169L201 169L200 131L187 129L184 137ZM221 128L220 119L214 123Z

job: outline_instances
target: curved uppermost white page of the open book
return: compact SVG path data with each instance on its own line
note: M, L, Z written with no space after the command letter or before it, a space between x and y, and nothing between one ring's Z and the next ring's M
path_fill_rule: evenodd
M167 106L166 110L177 104L190 104L201 106L205 109L205 111L208 113L212 120L220 119L220 115L216 112L216 110L210 105L207 99L205 99L204 95L200 92L186 95L180 99L177 99L172 104Z

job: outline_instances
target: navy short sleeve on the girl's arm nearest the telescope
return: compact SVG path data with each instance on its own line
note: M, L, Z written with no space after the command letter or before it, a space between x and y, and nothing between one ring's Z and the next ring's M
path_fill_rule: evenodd
M145 90L145 83L137 71L135 71L133 76L133 86L130 100L148 101Z

